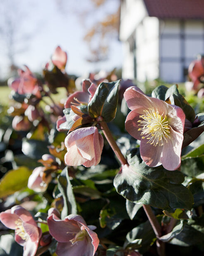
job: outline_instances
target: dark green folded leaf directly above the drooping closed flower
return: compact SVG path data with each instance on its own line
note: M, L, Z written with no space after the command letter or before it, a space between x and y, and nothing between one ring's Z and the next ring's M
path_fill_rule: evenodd
M118 87L120 80L111 83L100 83L96 92L89 102L89 115L93 118L102 116L104 121L114 119L118 105Z

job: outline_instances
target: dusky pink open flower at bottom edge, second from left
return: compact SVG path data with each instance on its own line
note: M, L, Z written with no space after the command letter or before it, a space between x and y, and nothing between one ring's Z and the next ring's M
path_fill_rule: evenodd
M80 215L68 215L64 220L55 214L48 217L50 234L58 241L58 256L94 256L98 248L98 236L87 226Z

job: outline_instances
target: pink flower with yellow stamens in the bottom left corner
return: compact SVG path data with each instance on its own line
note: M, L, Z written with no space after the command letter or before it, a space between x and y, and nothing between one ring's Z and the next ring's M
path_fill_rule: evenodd
M9 229L15 230L15 241L24 246L23 256L34 256L42 235L29 211L16 205L0 213L0 221Z

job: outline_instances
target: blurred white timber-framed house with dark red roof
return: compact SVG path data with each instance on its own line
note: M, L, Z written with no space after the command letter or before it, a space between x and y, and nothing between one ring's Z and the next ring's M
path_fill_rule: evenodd
M124 79L185 81L204 53L204 0L121 0Z

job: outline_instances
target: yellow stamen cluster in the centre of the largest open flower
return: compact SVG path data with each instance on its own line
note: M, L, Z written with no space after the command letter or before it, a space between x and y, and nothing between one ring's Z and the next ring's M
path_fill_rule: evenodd
M144 110L145 114L140 115L141 120L139 122L139 126L141 128L138 131L142 131L141 135L142 139L148 139L147 143L150 143L153 146L162 146L164 141L167 141L167 138L170 138L169 133L169 125L168 119L163 114L159 114L158 110L154 110L149 108L148 110Z

